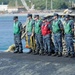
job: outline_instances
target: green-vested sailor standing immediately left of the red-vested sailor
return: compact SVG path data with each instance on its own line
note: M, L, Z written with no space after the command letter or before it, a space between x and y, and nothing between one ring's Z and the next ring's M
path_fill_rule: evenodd
M34 16L35 25L34 25L34 33L35 33L35 40L36 40L36 54L43 54L43 39L41 34L41 25L42 21L39 19L39 15Z

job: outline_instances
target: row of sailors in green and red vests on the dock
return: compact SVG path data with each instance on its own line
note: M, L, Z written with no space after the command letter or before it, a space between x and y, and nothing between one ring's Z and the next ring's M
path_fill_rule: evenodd
M48 55L62 57L63 46L62 39L66 42L66 57L74 57L74 21L70 15L60 18L57 13L53 17L39 18L39 15L27 15L25 36L27 36L28 53L34 55ZM21 42L22 24L18 21L18 17L14 17L14 41L16 50L14 53L23 53Z

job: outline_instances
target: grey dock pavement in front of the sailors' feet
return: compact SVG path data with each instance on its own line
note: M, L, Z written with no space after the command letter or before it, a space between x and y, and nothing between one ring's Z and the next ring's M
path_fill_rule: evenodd
M75 75L75 58L2 52L0 75Z

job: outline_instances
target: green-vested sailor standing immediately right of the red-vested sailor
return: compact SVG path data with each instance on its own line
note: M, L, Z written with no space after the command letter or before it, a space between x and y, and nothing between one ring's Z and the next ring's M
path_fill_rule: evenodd
M62 56L62 30L63 25L61 20L59 19L59 15L57 13L54 13L54 20L52 22L52 32L55 46L55 54L53 56Z

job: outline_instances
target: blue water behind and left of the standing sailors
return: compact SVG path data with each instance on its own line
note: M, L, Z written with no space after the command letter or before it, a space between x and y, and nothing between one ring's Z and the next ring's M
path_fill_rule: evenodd
M13 36L13 17L14 16L1 16L0 17L0 51L7 50L8 47L14 44ZM26 16L18 16L19 21L24 23ZM23 49L25 49L25 40L22 40Z

